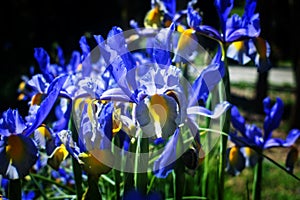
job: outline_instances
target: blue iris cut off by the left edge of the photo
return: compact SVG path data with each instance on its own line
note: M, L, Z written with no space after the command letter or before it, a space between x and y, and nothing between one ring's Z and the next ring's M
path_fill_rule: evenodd
M38 159L35 142L23 134L26 128L18 110L3 112L0 119L0 174L5 178L24 178Z

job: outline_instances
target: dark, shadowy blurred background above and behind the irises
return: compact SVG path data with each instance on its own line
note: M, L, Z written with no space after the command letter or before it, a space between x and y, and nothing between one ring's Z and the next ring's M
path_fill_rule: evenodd
M188 1L178 0L177 8L183 8ZM297 0L258 0L257 12L261 18L261 36L271 45L271 62L274 68L292 70L295 85L283 85L275 88L290 101L290 127L299 127L298 112L300 103L296 94L300 94L296 75L300 71L299 61L299 3ZM212 0L198 0L196 5L205 24L218 26L218 18ZM235 12L243 13L243 0L235 0ZM135 19L141 26L146 12L150 9L150 0L10 0L1 5L1 40L0 40L0 111L8 107L18 108L22 112L24 102L17 101L17 88L22 75L29 75L30 66L37 67L33 56L35 47L43 47L51 54L54 46L60 45L66 59L73 50L80 51L79 39L86 33L106 34L112 26L128 29L129 20ZM236 63L230 63L236 65ZM280 79L280 77L278 77ZM270 94L268 73L257 74L256 83L236 84L236 87L248 88L253 95L241 97L248 103L258 103ZM249 89L250 88L250 89ZM274 89L274 87L273 87ZM244 89L243 89L244 90ZM237 91L237 90L233 90ZM247 91L247 90L244 90ZM283 93L285 92L285 93ZM250 101L250 100L251 101ZM239 100L239 101L238 101ZM244 103L247 103L244 101ZM245 104L246 105L246 104ZM253 107L253 106L252 106ZM255 107L255 106L254 106ZM257 106L256 106L257 107ZM293 108L293 109L291 109ZM256 111L260 111L259 109ZM24 109L24 112L26 110Z

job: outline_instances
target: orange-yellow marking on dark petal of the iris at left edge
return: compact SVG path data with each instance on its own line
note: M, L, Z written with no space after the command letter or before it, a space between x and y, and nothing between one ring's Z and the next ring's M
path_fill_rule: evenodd
M14 161L20 162L24 157L24 144L20 137L11 135L7 139L7 146L5 151L8 157Z

